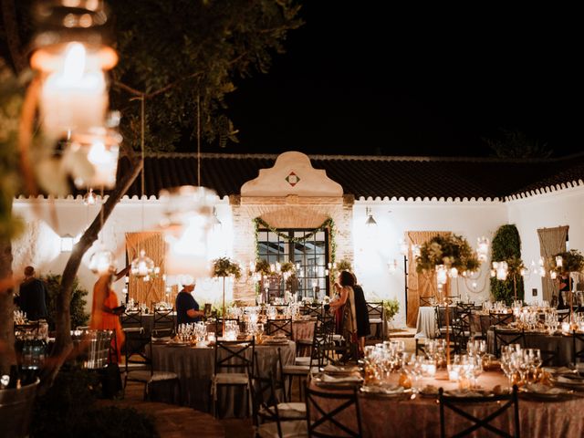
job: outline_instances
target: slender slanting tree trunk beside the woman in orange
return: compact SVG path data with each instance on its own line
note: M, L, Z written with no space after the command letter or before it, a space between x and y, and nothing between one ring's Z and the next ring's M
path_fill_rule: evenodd
M130 164L130 169L128 173L117 184L116 189L110 193L108 201L103 204L101 210L103 211L103 224L110 217L116 204L120 201L121 197L128 191L130 185L138 177L142 169L142 162L136 160ZM51 360L47 361L47 367L43 372L41 378L41 391L45 391L57 376L58 370L61 368L65 360L67 360L68 354L73 349L73 343L71 341L71 293L73 290L73 282L75 276L77 275L78 268L81 265L81 258L87 252L87 250L93 245L93 243L98 240L99 231L103 226L101 223L100 214L95 218L93 223L89 225L89 228L81 236L77 245L73 247L73 251L69 256L65 270L63 271L63 276L61 278L61 288L57 296L57 315L55 319L55 326L57 329L57 335L55 339L55 348L51 354Z

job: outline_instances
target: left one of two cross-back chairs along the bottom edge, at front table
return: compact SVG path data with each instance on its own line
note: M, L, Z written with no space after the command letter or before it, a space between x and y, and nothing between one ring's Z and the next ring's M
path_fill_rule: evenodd
M360 438L362 436L361 413L356 388L350 392L331 392L318 391L307 385L306 394L308 436L322 438Z

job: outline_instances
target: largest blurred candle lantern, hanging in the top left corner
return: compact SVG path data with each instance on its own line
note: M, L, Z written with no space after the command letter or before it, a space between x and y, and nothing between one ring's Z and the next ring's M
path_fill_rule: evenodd
M42 73L45 135L58 139L103 126L109 104L104 72L118 63L107 42L110 24L103 2L37 2L35 17L30 65Z

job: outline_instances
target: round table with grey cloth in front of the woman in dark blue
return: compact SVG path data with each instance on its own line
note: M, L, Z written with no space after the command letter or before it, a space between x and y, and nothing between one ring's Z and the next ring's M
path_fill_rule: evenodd
M277 360L277 349L281 349L284 365L293 364L296 357L296 344L288 341L284 345L255 345L258 370L267 377L269 365ZM152 345L152 363L155 370L172 371L181 381L183 405L203 412L210 412L211 378L214 373L214 349L211 347L193 348L169 345ZM166 386L164 389L169 389ZM152 401L178 402L178 394L153 388ZM171 388L172 389L172 388ZM245 391L237 388L222 388L218 391L218 407L224 417L244 417L247 414Z

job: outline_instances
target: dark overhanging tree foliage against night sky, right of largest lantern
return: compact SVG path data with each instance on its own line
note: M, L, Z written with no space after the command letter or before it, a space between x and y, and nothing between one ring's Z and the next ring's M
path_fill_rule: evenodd
M128 89L144 92L147 147L155 151L172 149L184 133L194 137L198 106L203 141L237 141L225 96L236 79L265 73L287 32L302 24L291 0L109 3L120 52L112 108L123 110L122 134L137 148L140 104L129 104Z

